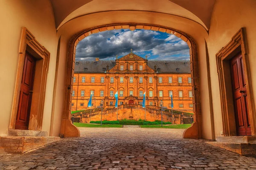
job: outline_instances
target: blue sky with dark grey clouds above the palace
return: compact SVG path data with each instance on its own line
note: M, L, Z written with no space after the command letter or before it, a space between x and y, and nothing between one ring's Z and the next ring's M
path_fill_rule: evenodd
M79 42L76 59L115 59L128 54L130 49L149 60L189 59L189 47L180 38L151 30L112 30L92 34Z

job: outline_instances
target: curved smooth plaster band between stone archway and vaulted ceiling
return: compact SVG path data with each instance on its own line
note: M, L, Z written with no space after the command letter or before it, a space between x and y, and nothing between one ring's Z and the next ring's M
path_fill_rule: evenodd
M118 23L121 25L122 23L142 23L169 27L189 34L195 41L198 39L204 40L208 37L205 28L192 20L149 11L106 11L83 15L61 26L58 35L69 40L74 34L79 34L85 29Z

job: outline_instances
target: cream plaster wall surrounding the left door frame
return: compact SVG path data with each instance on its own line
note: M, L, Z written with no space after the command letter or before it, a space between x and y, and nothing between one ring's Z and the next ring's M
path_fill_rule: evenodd
M48 0L0 0L0 21L0 136L10 124L22 27L51 53L42 126L49 135L58 43L52 5Z

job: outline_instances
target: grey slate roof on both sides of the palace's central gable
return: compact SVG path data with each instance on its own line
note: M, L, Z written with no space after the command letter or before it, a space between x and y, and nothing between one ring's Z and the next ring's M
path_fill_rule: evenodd
M97 61L97 64L94 64L94 60L76 60L79 64L75 65L75 73L104 73L105 71L102 68L107 69L107 65L109 69L113 68L113 62L115 60L100 60ZM166 64L168 63L168 64ZM187 63L187 64L184 64ZM157 68L160 68L159 73L190 73L190 63L189 60L165 60L165 61L157 61L157 60L148 60L148 66L154 70L154 65ZM85 71L84 68L87 68ZM179 71L177 71L179 68Z

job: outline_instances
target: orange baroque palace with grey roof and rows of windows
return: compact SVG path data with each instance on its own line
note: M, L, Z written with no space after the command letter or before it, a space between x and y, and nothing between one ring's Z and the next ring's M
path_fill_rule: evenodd
M118 105L140 104L146 93L146 105L163 106L193 113L192 86L189 61L153 61L131 53L116 60L76 60L73 79L72 111L87 107L92 93L92 107L115 105L114 94L118 91Z

